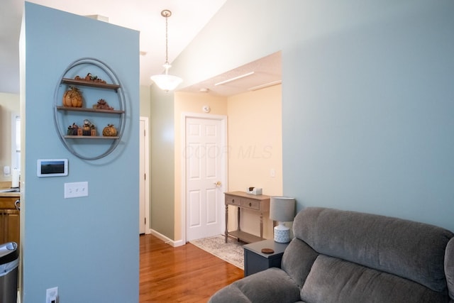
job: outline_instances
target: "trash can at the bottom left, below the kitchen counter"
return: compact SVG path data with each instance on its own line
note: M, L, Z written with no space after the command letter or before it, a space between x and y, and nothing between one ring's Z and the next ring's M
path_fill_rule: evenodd
M18 257L16 242L0 245L0 302L17 302Z

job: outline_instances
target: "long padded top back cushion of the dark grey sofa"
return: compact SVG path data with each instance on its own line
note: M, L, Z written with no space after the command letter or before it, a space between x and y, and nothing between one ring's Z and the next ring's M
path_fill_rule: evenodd
M294 220L294 236L317 253L341 258L446 292L443 228L355 211L309 207Z

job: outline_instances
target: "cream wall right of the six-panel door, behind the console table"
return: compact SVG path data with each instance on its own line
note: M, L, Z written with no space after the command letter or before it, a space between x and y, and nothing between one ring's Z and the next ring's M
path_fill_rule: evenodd
M261 187L263 194L282 195L282 85L228 98L228 147L228 191ZM229 216L236 218L235 208ZM236 228L233 221L229 229ZM242 211L243 231L259 235L258 221L255 212ZM272 238L268 215L263 236Z

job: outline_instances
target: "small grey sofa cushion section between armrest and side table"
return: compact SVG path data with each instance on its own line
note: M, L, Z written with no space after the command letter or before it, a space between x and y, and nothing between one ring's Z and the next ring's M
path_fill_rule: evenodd
M282 255L281 268L301 288L319 253L299 238L293 238Z

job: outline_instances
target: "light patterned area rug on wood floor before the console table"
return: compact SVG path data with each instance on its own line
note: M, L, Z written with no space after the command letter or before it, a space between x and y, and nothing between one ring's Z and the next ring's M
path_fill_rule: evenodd
M218 235L192 240L189 243L244 270L244 243L238 242L236 239L227 238L226 243L226 238L223 235Z

